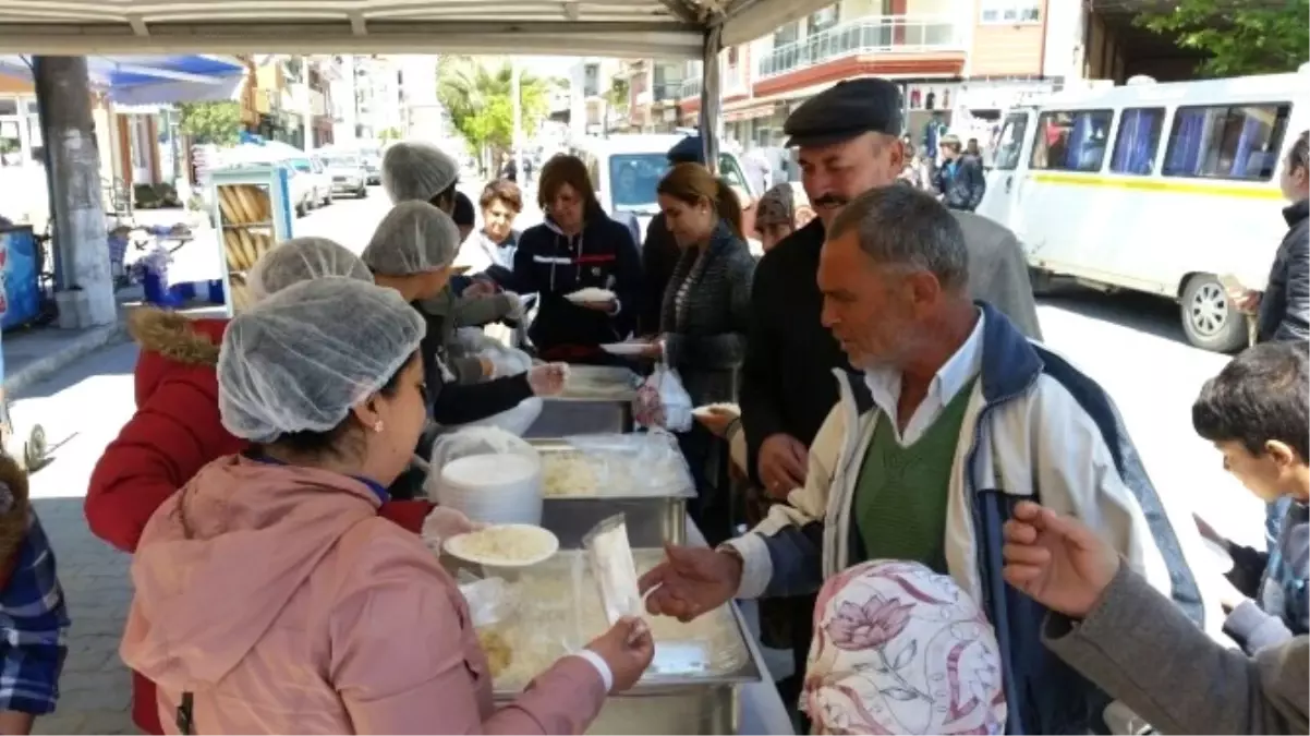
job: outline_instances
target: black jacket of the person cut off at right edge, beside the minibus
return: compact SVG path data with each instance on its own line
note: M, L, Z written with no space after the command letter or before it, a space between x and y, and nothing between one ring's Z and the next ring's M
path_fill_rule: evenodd
M1286 237L1260 299L1259 342L1310 339L1310 199L1282 211Z

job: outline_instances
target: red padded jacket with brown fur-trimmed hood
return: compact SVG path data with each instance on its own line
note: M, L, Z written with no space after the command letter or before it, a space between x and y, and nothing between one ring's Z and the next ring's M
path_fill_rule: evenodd
M219 416L215 365L227 325L155 309L131 317L128 326L141 346L136 414L96 464L85 506L90 530L126 553L136 550L145 523L173 491L211 461L248 447ZM427 502L393 500L379 513L418 532L431 508ZM132 720L147 733L164 733L155 686L139 674L132 681Z

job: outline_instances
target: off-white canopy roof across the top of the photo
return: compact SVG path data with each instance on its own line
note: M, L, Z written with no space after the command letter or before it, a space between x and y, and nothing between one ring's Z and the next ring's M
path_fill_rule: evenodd
M561 54L700 58L831 0L0 0L10 54Z

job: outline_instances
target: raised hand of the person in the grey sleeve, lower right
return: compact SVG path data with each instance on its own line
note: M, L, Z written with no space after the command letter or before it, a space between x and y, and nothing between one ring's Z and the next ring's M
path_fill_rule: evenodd
M1091 529L1027 500L1005 523L1002 554L1007 583L1073 618L1091 613L1120 566Z

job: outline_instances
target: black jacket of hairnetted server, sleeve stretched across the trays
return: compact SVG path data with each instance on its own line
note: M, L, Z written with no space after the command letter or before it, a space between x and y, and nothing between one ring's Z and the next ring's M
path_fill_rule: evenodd
M438 424L453 426L477 422L508 411L527 398L532 398L528 375L493 378L479 384L447 381L441 372L445 360L443 318L419 309L427 331L419 344L423 356L423 378L427 384L428 415ZM426 456L426 451L423 452Z

